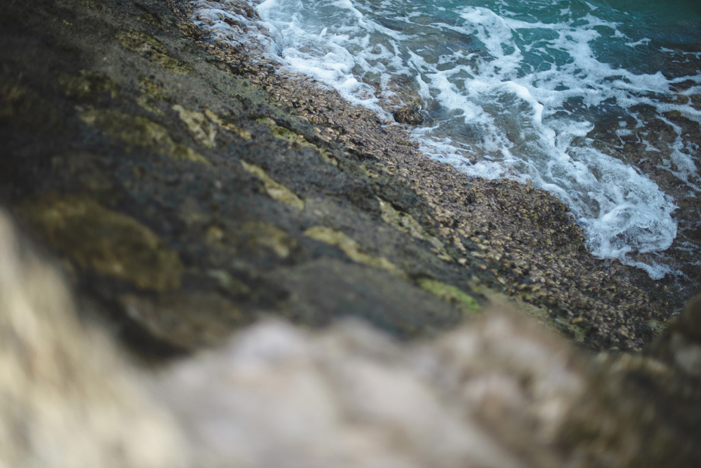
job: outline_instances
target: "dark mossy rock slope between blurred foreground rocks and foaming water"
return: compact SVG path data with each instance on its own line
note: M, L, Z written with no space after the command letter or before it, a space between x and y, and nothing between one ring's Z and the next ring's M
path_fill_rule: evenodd
M592 259L552 195L468 179L189 14L32 0L0 20L1 200L141 352L267 315L431 336L495 295L592 350L639 350L695 291Z

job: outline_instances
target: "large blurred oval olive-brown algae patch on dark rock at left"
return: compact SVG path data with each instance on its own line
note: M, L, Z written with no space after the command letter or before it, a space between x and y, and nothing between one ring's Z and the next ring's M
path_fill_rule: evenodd
M183 266L177 254L130 216L62 195L27 202L20 213L51 247L81 268L154 291L180 285Z

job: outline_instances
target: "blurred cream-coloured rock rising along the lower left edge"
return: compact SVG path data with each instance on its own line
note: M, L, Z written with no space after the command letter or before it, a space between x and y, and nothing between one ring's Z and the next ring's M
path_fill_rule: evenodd
M0 212L0 466L186 467L169 410Z

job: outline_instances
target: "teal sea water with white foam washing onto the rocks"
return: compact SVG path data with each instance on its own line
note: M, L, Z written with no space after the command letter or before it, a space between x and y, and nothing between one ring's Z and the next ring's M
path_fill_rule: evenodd
M402 83L426 154L554 193L600 259L681 274L664 252L678 199L701 190L701 2L252 0L258 29L194 3L212 34L264 43L388 123Z

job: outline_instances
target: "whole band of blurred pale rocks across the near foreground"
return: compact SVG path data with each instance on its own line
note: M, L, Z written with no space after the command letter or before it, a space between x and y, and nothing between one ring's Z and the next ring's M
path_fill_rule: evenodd
M496 309L414 343L268 319L146 373L0 213L0 466L697 467L700 301L662 355Z

